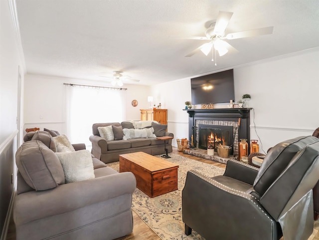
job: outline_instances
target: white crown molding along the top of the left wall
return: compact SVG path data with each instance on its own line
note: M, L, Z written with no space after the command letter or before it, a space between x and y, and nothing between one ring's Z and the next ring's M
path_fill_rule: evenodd
M15 41L16 41L16 47L20 58L20 67L23 71L23 75L26 73L26 65L25 65L25 59L24 59L24 53L22 48L22 42L21 42L21 35L20 35L20 27L19 27L19 20L18 20L18 14L16 11L16 2L15 0L7 0L9 4L9 10L12 17L12 25L15 33Z

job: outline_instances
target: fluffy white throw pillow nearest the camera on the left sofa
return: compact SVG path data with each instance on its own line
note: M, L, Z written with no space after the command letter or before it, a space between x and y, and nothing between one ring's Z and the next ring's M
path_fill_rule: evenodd
M88 150L56 155L62 165L66 183L95 178L91 153Z

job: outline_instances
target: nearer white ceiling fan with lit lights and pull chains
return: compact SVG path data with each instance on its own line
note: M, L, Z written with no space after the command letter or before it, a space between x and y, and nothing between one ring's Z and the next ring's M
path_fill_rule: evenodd
M219 11L218 17L215 24L211 24L210 27L207 28L205 31L205 36L193 36L193 37L186 37L184 39L196 39L196 40L209 40L209 42L202 44L201 46L197 47L190 53L188 53L185 57L190 57L197 53L198 51L202 51L206 56L212 50L212 55L214 54L215 49L215 57L216 51L218 52L219 56L225 55L229 49L235 49L231 46L227 40L237 39L237 38L244 38L244 37L252 37L258 35L266 35L273 33L273 26L269 27L262 27L247 31L240 31L234 33L228 33L225 36L225 30L228 25L230 18L232 17L233 12L228 11ZM235 49L236 50L236 49ZM214 61L214 57L212 57L212 61ZM215 62L216 65L216 62Z

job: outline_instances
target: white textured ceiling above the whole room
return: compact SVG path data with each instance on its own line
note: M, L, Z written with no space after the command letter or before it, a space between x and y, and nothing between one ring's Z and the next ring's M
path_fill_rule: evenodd
M319 46L318 0L16 0L28 73L103 80L123 71L152 85ZM274 26L273 34L228 40L217 57L204 36L219 10L234 12L226 34ZM124 82L130 83L131 82Z

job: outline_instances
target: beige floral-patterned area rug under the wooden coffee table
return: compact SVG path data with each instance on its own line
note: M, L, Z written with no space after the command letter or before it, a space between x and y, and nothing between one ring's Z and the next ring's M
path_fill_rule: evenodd
M162 240L204 240L194 231L190 236L184 234L181 192L185 185L186 174L188 170L196 170L213 177L222 175L225 169L177 154L169 154L169 156L171 158L165 160L179 165L178 190L150 198L137 188L133 194L132 209ZM107 166L119 171L119 162L109 163Z

